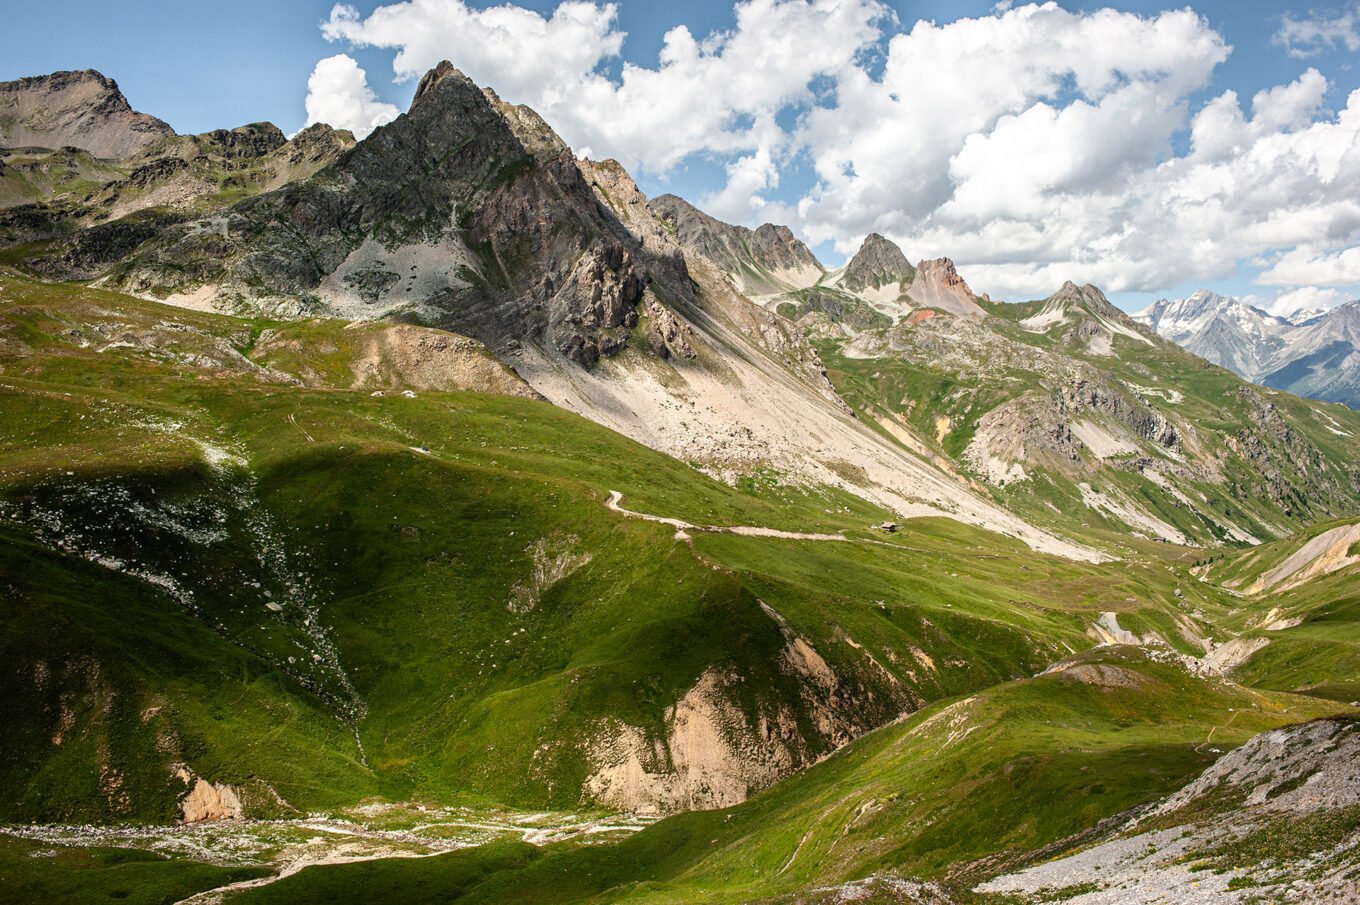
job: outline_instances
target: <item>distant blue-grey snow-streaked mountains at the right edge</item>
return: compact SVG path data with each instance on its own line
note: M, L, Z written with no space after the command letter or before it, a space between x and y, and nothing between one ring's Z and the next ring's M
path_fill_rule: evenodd
M1133 318L1253 382L1360 408L1360 301L1280 317L1200 290Z

